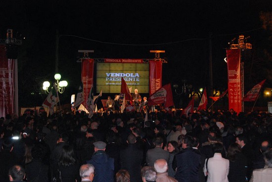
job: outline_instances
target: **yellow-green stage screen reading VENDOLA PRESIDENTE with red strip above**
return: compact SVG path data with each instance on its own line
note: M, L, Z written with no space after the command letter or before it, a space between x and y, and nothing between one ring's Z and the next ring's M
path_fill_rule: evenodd
M122 77L132 92L149 92L149 64L142 59L104 59L104 63L96 63L96 92L120 93Z

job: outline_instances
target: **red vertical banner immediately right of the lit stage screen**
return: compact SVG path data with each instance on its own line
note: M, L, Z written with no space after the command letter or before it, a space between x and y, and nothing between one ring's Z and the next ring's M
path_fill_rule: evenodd
M149 95L162 87L162 61L149 61Z

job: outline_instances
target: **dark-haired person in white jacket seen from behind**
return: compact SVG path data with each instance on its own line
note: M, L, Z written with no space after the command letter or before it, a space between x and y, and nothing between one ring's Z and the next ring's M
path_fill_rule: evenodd
M206 159L203 167L204 175L208 175L207 182L228 182L229 161L221 155L223 144L221 142L214 143L213 151L214 157Z

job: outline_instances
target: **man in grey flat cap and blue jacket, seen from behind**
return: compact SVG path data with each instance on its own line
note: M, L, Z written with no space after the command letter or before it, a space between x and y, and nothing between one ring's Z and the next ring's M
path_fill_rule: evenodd
M109 158L105 152L106 143L96 141L93 143L94 153L91 160L87 161L95 168L93 182L114 182L114 159Z

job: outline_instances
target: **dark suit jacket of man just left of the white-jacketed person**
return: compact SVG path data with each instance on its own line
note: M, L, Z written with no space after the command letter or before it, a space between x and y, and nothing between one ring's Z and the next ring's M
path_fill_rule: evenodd
M199 182L198 170L201 164L201 155L191 147L181 150L175 155L172 167L177 172L175 179L179 182Z

